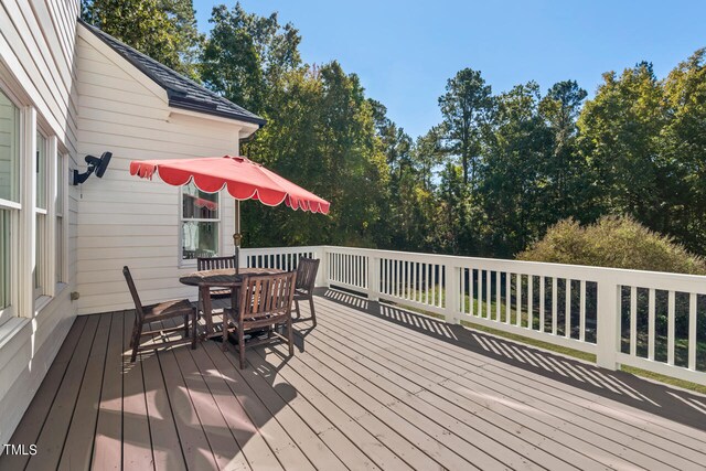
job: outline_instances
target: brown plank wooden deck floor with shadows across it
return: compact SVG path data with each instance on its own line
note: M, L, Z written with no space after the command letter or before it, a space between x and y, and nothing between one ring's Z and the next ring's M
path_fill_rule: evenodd
M12 439L38 453L0 469L704 469L702 396L340 291L315 303L295 357L250 350L244 371L213 341L129 364L131 312L78 318Z

